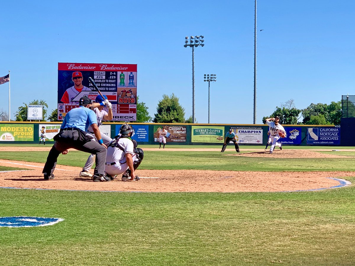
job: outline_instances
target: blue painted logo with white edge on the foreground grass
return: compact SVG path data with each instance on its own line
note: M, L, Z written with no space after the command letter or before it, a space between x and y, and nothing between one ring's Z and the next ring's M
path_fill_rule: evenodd
M0 217L0 227L33 227L47 226L64 221L62 218L46 218L31 216Z

